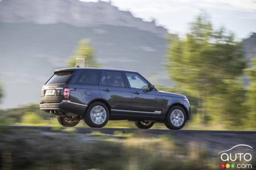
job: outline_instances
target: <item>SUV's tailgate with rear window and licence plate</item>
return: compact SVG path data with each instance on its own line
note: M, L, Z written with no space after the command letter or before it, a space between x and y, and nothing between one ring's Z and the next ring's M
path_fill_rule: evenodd
M60 103L63 100L63 88L73 74L73 70L55 72L42 88L42 103Z

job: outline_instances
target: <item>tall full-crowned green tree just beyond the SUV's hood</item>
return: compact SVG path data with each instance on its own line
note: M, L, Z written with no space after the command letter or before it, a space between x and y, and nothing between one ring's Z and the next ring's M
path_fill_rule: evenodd
M199 100L199 113L204 122L210 120L208 104L220 94L230 94L230 84L240 84L238 78L246 62L241 42L224 28L214 31L207 16L200 15L191 24L185 39L170 39L167 69L176 86L182 87ZM238 87L238 86L236 86Z

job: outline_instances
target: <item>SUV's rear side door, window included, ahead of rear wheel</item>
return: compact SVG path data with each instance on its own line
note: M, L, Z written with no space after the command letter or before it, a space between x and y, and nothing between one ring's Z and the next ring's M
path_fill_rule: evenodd
M102 71L99 89L113 112L131 108L131 91L123 78L122 71Z

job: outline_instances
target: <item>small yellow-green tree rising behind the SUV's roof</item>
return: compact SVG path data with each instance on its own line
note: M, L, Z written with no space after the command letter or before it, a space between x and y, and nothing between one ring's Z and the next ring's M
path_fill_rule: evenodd
M100 64L95 60L93 47L87 40L80 40L76 53L68 62L68 67L76 67L76 58L85 59L85 67L100 67Z

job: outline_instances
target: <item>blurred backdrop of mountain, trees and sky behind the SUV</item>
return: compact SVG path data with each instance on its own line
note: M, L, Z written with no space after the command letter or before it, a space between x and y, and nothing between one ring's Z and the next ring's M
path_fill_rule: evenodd
M255 14L250 0L2 0L1 123L58 125L39 111L40 89L78 57L187 95L187 129L255 130Z

